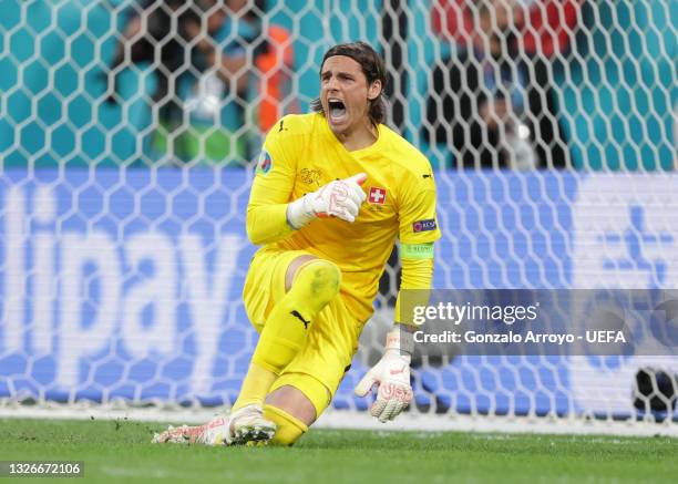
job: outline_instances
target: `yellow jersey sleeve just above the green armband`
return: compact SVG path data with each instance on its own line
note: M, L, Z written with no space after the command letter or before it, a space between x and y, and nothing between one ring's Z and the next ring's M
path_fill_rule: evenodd
M435 182L431 166L403 181L399 204L399 233L402 244L425 244L441 237L435 215Z

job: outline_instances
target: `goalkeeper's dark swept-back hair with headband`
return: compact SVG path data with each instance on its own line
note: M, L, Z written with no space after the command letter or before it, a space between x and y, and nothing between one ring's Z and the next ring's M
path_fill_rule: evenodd
M335 45L325 53L320 63L320 74L322 74L322 65L325 61L335 55L346 55L360 64L362 73L367 78L368 86L374 81L381 81L381 92L377 97L370 101L369 116L372 124L383 123L387 113L387 99L383 93L388 80L386 66L381 56L366 42L350 42ZM323 113L320 97L314 100L311 110L316 113Z

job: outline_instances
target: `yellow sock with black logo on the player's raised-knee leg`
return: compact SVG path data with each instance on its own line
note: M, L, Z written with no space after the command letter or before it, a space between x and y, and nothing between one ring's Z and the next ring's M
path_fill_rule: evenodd
M339 294L340 282L339 268L327 260L314 259L299 268L291 289L266 319L233 410L264 403L273 382L301 349L312 319Z

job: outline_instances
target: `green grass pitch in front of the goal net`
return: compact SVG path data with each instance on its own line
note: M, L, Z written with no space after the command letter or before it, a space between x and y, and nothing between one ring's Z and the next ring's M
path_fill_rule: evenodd
M0 460L84 461L84 478L72 481L95 483L636 483L678 476L678 439L669 437L312 429L290 449L151 444L165 426L0 420ZM0 484L10 481L0 477Z

